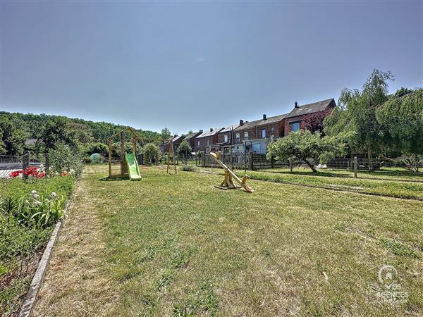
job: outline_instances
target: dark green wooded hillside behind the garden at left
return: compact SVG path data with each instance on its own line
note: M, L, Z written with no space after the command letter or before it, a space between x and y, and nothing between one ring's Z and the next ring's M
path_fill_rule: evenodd
M0 154L21 155L30 150L35 154L47 153L57 144L66 144L82 155L107 153L107 138L126 128L114 123L93 122L66 116L0 112ZM160 138L161 134L137 130L140 137ZM129 135L128 135L129 137ZM28 144L26 141L33 139ZM117 140L114 140L117 142Z

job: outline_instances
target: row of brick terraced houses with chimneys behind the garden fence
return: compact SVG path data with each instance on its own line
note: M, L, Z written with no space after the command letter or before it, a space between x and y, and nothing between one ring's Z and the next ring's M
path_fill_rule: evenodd
M266 114L259 120L244 121L230 125L226 128L210 128L200 130L187 136L173 137L173 147L178 147L180 142L188 141L192 151L223 151L232 150L232 153L253 151L265 154L267 145L272 139L284 137L290 132L300 130L302 120L314 113L327 111L336 106L333 98L317 101L312 104L300 106L297 102L289 113L267 117ZM167 145L168 147L168 145ZM166 151L166 144L163 145Z

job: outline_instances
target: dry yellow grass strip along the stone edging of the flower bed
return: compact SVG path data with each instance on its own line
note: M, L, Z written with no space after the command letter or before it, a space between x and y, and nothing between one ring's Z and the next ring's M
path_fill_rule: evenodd
M114 285L104 269L104 227L96 209L99 199L85 180L90 173L92 168L87 168L75 188L35 316L106 315L116 301Z

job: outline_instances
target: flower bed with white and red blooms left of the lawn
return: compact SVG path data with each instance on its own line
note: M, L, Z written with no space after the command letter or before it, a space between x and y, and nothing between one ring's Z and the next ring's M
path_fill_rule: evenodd
M4 316L20 309L75 182L73 175L47 178L36 168L24 172L27 182L0 180L0 312Z

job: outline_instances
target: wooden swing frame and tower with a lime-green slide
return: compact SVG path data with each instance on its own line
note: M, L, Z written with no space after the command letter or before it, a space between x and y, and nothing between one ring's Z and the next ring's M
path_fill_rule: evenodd
M131 140L130 142L132 143L132 149L133 149L133 155L126 155L125 156L125 132L129 132ZM112 158L112 141L115 137L120 136L121 138L121 151L120 151L120 155L117 158ZM109 156L108 156L108 161L109 161L109 178L125 178L125 177L130 177L131 180L133 179L140 179L140 177L137 177L137 175L130 175L130 171L133 170L134 173L138 173L139 175L139 169L138 168L130 168L130 170L128 170L128 166L131 167L131 165L133 163L135 163L136 165L137 163L137 142L169 142L169 151L167 154L167 168L166 168L166 172L171 174L171 170L174 170L175 174L176 174L176 159L175 159L175 154L173 153L173 142L170 139L161 139L161 138L149 138L149 137L138 137L137 133L135 132L135 130L133 130L133 128L131 127L127 127L117 133L115 133L114 135L111 135L110 137L107 138L107 143L109 145ZM128 161L128 159L130 159L131 161ZM119 166L119 168L116 170L116 168L114 168L114 166ZM171 167L173 166L173 167Z

